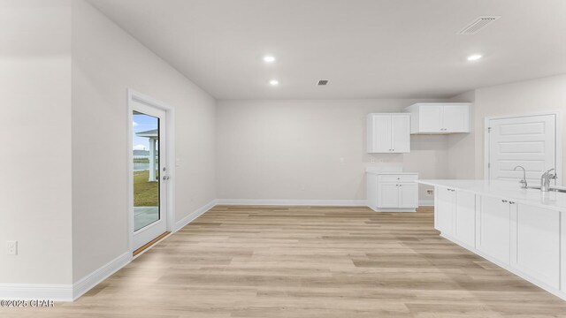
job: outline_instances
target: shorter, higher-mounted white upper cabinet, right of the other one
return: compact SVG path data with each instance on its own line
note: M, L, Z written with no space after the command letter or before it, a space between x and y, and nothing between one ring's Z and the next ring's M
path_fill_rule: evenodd
M410 133L470 133L470 102L418 102L405 111Z

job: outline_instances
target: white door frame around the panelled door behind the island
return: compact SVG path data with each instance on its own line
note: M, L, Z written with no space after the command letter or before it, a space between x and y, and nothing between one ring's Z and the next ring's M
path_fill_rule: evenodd
M534 116L545 116L545 115L555 115L555 172L556 172L556 184L562 186L562 111L552 110L543 111L537 113L525 113L516 115L501 115L486 117L484 119L484 178L489 180L489 121L493 119L509 119L516 117L534 117Z

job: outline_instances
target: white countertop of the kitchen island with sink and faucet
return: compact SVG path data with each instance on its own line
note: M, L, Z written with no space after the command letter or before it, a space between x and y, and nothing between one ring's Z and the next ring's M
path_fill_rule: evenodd
M499 180L418 180L428 186L445 186L460 191L504 198L517 203L566 212L566 193L543 193L536 189L522 189L515 181ZM532 185L532 186L539 186Z

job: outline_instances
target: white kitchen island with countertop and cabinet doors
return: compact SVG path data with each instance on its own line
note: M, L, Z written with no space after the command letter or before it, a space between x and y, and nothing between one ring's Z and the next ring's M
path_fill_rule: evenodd
M510 181L417 182L434 186L442 237L566 299L566 193Z

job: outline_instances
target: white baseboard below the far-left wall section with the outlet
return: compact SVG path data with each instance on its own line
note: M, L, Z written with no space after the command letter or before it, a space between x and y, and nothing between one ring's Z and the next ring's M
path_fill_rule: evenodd
M0 284L0 299L73 301L72 284Z

